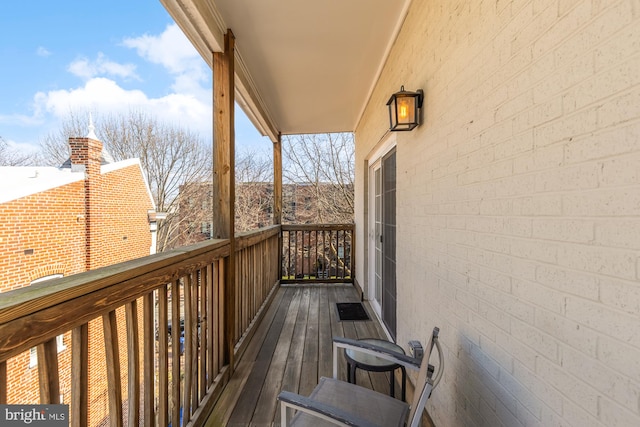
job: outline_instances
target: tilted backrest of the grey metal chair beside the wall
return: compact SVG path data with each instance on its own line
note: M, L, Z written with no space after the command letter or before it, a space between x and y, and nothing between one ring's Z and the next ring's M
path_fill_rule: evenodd
M418 381L416 382L416 388L413 394L413 402L411 403L411 411L409 412L409 420L407 425L410 427L417 427L420 424L420 418L422 412L427 404L431 392L436 388L442 378L442 372L444 371L444 355L442 354L442 348L440 347L440 341L438 341L438 334L440 329L433 328L431 339L427 344L425 355L420 365L420 372L418 373ZM438 350L438 372L434 376L435 368L429 363L433 348Z

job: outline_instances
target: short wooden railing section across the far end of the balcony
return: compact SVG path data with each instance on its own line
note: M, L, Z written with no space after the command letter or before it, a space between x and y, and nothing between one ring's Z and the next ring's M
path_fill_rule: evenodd
M355 273L355 226L282 226L282 283L348 282Z

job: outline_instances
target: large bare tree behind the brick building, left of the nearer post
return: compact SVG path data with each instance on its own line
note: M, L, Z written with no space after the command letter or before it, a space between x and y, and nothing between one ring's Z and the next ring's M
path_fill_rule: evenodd
M160 123L144 112L94 117L94 121L96 136L115 161L140 159L156 209L167 213L158 226L158 251L177 247L181 226L193 222L180 213L181 186L211 180L211 151L197 134ZM60 165L69 157L69 137L86 135L87 124L88 114L71 113L58 133L44 139L41 146L49 164Z

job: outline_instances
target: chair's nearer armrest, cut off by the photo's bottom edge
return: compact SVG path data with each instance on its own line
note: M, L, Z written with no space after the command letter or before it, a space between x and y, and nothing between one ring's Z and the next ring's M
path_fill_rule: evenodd
M309 397L301 396L290 391L281 391L278 395L278 400L282 402L282 427L285 427L287 407L306 412L307 414L332 422L336 425L377 427L376 424L362 419L357 415L350 414L343 409L336 408L335 406L327 405L325 403L320 403Z

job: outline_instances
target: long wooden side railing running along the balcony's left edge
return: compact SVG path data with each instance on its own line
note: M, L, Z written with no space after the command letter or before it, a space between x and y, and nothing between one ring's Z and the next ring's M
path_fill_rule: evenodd
M229 240L208 241L3 293L0 404L55 404L64 393L74 426L202 425L278 283L279 232L238 236L235 263ZM39 400L11 401L29 369L16 359L32 347ZM108 411L95 419L100 384Z

